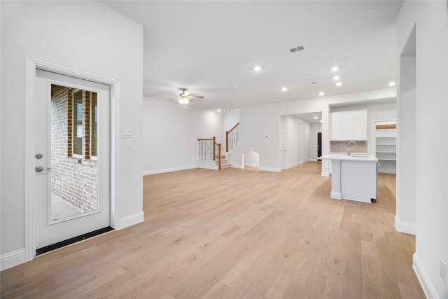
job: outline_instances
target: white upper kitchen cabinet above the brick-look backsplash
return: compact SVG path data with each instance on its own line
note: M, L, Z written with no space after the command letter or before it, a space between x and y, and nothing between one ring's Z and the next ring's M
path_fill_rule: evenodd
M330 113L330 140L367 140L367 110Z

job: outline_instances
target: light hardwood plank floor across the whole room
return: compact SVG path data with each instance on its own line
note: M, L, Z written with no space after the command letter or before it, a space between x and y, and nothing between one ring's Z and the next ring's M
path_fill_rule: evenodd
M319 162L144 177L145 221L1 272L2 298L424 298L395 176L330 199Z

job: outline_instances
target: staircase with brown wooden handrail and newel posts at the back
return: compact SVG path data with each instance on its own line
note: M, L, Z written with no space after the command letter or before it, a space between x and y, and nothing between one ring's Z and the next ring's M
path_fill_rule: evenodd
M225 132L225 154L223 155L221 144L216 143L216 137L198 138L199 153L197 165L206 169L225 169L232 167L228 154L239 144L239 123Z

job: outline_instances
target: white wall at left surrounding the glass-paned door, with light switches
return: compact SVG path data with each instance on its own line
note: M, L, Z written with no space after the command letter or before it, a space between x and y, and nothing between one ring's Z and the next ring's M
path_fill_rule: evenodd
M114 119L121 127L113 144L120 151L114 186L118 213L123 221L142 221L143 28L96 1L1 1L0 5L2 258L25 249L26 55L120 81ZM125 150L123 128L132 129L132 150Z

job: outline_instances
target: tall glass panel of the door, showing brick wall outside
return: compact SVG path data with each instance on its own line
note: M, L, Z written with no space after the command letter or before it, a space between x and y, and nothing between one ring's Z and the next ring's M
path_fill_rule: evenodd
M51 221L98 211L97 93L51 85Z

